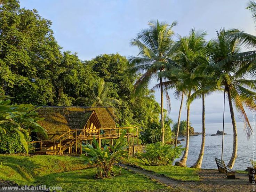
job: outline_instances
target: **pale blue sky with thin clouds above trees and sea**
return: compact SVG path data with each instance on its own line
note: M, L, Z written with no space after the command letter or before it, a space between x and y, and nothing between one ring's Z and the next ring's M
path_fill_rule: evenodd
M247 0L20 0L21 7L37 9L38 13L51 20L52 29L63 51L78 53L82 60L89 60L100 54L119 53L129 57L137 56L138 49L129 42L147 27L152 19L171 24L178 21L174 31L188 35L192 27L206 30L207 40L216 37L216 30L237 28L255 35L250 12L245 9ZM157 83L152 80L149 88ZM180 101L171 96L169 116L178 119ZM160 103L160 93L155 92ZM206 97L206 123L222 122L223 94ZM201 123L202 102L191 104L191 123ZM253 121L252 112L247 112ZM185 105L182 120L186 119ZM237 119L239 121L239 119ZM231 122L229 105L226 101L225 122Z

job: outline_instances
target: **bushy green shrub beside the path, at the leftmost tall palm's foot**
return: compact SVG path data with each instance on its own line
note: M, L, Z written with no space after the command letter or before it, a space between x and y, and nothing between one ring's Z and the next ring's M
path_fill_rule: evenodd
M141 160L149 165L171 165L184 148L182 146L162 144L162 142L147 144L145 153L139 154Z

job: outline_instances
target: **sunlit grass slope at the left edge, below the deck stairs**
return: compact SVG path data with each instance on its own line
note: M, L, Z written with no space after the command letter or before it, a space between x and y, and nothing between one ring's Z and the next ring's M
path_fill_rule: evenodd
M0 178L15 181L19 185L32 185L41 176L51 173L88 167L79 158L56 155L0 155L0 162L7 163L7 166L3 166L3 171L0 171Z

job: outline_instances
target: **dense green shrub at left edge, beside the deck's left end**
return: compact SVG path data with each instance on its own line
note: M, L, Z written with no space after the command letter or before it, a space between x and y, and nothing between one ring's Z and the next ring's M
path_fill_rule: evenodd
M31 138L29 138L29 141ZM29 149L33 148L32 144L28 145ZM14 153L26 153L24 145L21 143L18 133L4 134L0 142L0 153L14 154Z

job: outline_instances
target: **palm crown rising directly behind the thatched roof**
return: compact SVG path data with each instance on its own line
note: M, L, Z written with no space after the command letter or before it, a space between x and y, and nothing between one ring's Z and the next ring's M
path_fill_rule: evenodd
M114 107L116 104L120 104L120 101L115 98L109 97L110 86L107 84L104 79L99 78L95 83L93 88L91 88L91 94L89 97L79 97L77 100L80 100L87 105L92 107L96 106L110 106Z

